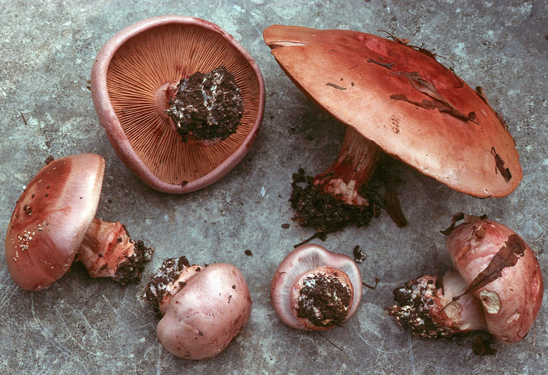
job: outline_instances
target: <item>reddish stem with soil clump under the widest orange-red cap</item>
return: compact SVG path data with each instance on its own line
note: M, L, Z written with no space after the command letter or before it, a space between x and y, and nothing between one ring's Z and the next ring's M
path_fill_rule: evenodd
M378 208L384 208L398 226L407 225L394 191L394 178L386 165L389 159L380 162L381 156L384 154L377 144L348 126L337 160L328 170L312 181L302 170L293 175L289 201L296 210L294 219L301 226L329 233L350 224L367 225L379 214ZM371 181L373 176L375 183ZM307 183L305 188L299 185L302 182ZM371 189L366 189L367 185ZM380 187L382 194L377 189Z

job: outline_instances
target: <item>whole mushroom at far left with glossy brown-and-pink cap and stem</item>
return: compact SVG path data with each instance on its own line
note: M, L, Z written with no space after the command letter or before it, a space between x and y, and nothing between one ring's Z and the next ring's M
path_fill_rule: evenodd
M82 153L51 161L15 204L6 234L6 263L25 290L46 288L74 258L91 277L136 283L152 249L129 238L120 222L95 219L105 161Z

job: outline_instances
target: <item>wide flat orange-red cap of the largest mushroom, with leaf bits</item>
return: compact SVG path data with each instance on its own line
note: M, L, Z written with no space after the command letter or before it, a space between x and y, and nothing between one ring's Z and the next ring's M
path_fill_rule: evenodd
M517 187L503 120L428 51L357 31L273 25L263 36L303 92L390 155L476 197Z

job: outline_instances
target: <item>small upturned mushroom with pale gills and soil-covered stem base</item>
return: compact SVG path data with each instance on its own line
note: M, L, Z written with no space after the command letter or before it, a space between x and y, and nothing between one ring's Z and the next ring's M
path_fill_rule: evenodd
M317 244L289 253L271 282L271 300L282 322L293 328L325 331L341 326L362 299L362 274L348 256Z

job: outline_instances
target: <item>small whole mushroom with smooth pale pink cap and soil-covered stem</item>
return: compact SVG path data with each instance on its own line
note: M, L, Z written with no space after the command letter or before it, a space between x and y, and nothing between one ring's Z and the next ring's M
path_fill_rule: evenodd
M145 290L162 318L158 340L174 356L200 360L223 351L251 314L248 284L227 263L202 267L186 257L168 258Z

